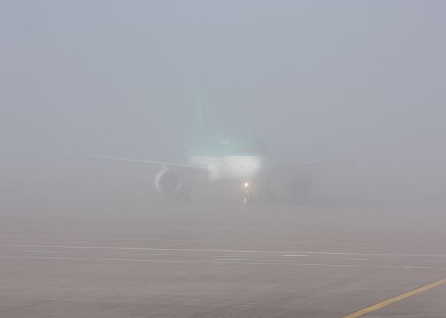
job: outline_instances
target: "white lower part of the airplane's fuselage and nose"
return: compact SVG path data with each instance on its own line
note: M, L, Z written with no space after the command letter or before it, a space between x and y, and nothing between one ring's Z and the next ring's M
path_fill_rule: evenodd
M210 181L251 181L266 172L266 158L261 156L189 156L191 163L207 165Z

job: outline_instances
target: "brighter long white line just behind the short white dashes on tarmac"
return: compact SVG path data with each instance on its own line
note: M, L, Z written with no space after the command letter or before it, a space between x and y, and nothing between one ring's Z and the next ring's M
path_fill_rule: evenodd
M291 252L291 251L268 251L268 250L207 250L198 248L130 248L115 246L63 246L63 245L0 245L0 248L84 248L94 250L175 250L182 252L257 252L272 254L309 254L309 255L371 255L371 256L413 256L413 257L446 257L446 255L428 254L391 254L391 253L353 253L353 252Z

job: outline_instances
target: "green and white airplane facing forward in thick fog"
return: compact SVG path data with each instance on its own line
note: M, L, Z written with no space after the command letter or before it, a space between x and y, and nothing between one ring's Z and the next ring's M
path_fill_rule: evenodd
M259 137L250 133L241 135L221 135L206 129L201 107L197 109L197 131L190 146L181 148L187 151L187 162L164 162L132 158L94 156L60 151L33 151L65 156L78 156L102 160L139 162L157 165L160 171L155 174L155 188L162 195L189 201L190 182L195 176L204 176L207 181L236 181L243 188L243 203L254 204L257 199L274 199L272 176L277 169L288 175L288 190L292 195L307 195L312 189L312 178L299 167L324 165L332 162L353 162L363 158L307 162L291 167L275 167L270 161L266 146Z

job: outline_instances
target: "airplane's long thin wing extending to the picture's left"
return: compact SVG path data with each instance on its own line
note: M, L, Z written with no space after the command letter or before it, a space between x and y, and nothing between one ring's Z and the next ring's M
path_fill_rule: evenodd
M137 162L137 163L145 163L145 164L148 164L148 165L160 165L161 167L166 167L166 168L171 167L171 168L181 168L181 169L195 170L197 172L208 172L208 169L207 169L206 165L197 165L197 164L192 164L192 163L177 163L177 162L164 162L164 161L132 159L132 158L92 156L92 155L84 155L82 153L65 153L65 152L60 152L60 151L35 150L35 151L32 151L32 152L36 152L36 153L51 153L51 154L63 155L63 156L84 157L84 158L102 159L102 160Z

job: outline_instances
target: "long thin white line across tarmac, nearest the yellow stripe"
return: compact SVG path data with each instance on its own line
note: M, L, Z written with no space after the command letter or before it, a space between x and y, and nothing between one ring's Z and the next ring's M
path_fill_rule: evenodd
M429 266L387 266L387 265L357 265L357 264L300 264L300 263L264 263L264 262L221 262L221 261L188 261L188 260L164 260L164 259L109 259L109 258L84 258L84 257L38 257L38 256L0 256L10 259L66 259L78 261L113 261L113 262L158 262L158 263L217 263L237 265L294 265L294 266L321 266L321 267L371 267L371 268L404 268L404 269L446 269L446 267ZM254 260L254 259L253 259ZM247 261L247 259L243 259ZM272 261L275 262L275 261Z

